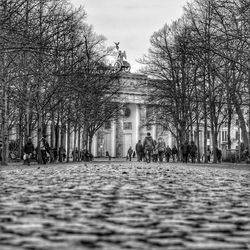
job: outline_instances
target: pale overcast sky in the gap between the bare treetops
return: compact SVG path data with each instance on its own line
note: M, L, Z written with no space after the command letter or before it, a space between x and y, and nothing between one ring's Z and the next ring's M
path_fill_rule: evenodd
M87 12L87 23L97 34L107 38L107 45L120 42L126 51L131 72L136 62L150 47L151 35L165 23L181 17L187 0L70 0L75 7L82 5Z

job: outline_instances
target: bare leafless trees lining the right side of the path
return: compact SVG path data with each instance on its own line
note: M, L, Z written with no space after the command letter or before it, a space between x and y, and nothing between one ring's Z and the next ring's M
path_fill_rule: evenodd
M236 114L250 146L250 2L194 0L150 42L140 63L154 79L148 82L149 101L157 103L152 121L169 129L178 144L193 139L193 127L199 131L202 124L204 148L208 129L216 148L221 126L231 131ZM199 132L197 137L199 142Z

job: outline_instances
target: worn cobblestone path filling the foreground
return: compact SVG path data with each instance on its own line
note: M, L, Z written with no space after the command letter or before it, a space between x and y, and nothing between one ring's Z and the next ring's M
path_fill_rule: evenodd
M1 250L250 249L250 171L182 164L0 172Z

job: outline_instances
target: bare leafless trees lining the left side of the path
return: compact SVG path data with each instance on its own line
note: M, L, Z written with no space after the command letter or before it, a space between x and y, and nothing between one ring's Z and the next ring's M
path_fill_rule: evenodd
M118 75L107 66L113 51L86 23L84 9L66 0L0 0L2 164L8 162L11 131L21 156L27 137L36 133L40 141L48 125L57 149L68 130L68 148L71 132L78 131L84 137L78 147L91 150L95 132L120 109L112 102Z

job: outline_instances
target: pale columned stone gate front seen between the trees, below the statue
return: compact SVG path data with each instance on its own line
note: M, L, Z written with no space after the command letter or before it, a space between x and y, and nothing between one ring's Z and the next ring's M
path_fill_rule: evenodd
M146 127L146 95L147 93L140 86L142 82L147 81L145 75L125 73L120 81L123 86L120 91L120 101L125 104L123 114L119 119L114 121L114 126L111 129L104 129L106 138L113 136L114 140L109 140L108 143L102 143L103 151L110 151L112 157L125 157L130 146L135 149L138 140L144 139L147 132L150 132L154 139L157 139L158 130L155 126ZM98 149L100 142L94 144L94 156L100 155ZM103 156L103 155L102 155Z

